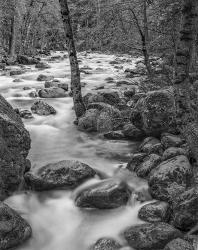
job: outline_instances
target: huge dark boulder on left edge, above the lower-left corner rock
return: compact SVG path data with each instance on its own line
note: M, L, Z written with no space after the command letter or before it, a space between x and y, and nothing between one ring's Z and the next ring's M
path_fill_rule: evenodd
M30 136L20 116L2 96L0 131L0 200L3 200L23 182Z

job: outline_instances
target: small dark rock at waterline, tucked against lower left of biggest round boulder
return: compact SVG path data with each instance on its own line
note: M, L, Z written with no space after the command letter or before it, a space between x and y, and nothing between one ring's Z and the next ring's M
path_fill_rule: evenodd
M136 128L133 124L126 124L122 132L127 139L131 140L141 140L145 136L144 132Z

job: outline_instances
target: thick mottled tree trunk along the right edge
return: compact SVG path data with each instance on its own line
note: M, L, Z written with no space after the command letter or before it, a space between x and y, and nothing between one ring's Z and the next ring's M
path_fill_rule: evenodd
M189 79L198 17L198 1L184 0L182 16L183 25L180 31L180 41L176 54L177 67L174 84L177 115L180 120L179 128L181 133L186 138L198 163L198 110L195 109L197 105L193 105L191 96L194 92Z

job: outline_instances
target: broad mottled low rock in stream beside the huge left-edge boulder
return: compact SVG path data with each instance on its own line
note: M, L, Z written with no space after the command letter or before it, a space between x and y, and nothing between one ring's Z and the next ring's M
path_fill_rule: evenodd
M88 165L65 160L42 167L37 174L27 172L25 181L33 190L73 189L94 177L96 172Z

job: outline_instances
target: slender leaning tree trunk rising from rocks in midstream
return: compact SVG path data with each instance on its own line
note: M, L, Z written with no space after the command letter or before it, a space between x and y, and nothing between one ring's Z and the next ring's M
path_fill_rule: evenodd
M59 0L59 3L61 7L61 15L66 35L66 44L71 66L71 90L73 94L74 110L77 118L79 118L85 113L85 105L83 103L81 94L80 70L77 60L68 3L67 0Z

